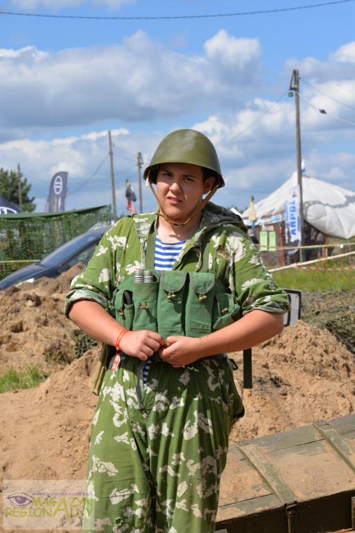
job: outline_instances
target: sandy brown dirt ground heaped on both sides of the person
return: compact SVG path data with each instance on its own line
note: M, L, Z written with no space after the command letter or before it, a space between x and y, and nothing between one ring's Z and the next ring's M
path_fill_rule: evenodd
M85 479L97 399L90 380L99 348L75 359L78 330L64 318L63 305L78 271L80 266L56 280L42 278L1 293L0 371L31 364L51 373L35 389L0 395L1 480ZM355 355L318 327L342 316L354 339L355 291L342 293L302 295L307 322L253 348L252 390L243 390L242 371L235 371L246 415L232 441L354 412ZM242 368L242 354L231 357Z

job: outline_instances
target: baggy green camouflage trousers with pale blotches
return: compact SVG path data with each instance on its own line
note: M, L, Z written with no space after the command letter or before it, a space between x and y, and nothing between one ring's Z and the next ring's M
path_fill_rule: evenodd
M228 437L243 405L227 359L107 371L94 416L84 531L214 533Z

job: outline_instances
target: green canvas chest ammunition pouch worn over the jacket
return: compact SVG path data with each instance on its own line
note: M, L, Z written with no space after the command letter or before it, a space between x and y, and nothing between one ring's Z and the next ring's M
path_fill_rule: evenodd
M129 276L114 291L108 310L128 330L204 337L239 318L239 304L213 273L152 272L153 282Z

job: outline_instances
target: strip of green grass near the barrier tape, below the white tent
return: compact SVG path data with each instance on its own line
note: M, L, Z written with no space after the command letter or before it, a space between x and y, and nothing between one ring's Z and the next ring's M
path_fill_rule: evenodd
M334 266L332 265L332 267ZM286 269L272 272L272 276L279 287L284 287L285 289L298 289L300 291L329 291L331 289L354 289L355 287L355 269Z

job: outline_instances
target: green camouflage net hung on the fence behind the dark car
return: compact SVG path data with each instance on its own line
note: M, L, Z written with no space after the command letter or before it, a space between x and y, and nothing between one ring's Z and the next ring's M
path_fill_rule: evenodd
M109 224L111 206L60 213L0 216L0 279L26 267L89 228Z

